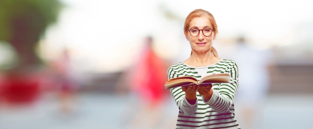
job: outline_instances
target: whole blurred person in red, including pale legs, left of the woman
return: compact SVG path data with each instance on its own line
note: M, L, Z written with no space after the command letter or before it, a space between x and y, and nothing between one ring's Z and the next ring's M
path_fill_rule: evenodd
M127 88L132 100L128 101L130 106L126 107L125 113L132 113L132 117L126 119L127 128L168 128L159 127L162 126L159 122L161 107L166 98L163 84L168 65L165 59L154 52L153 43L151 36L145 38L138 60L121 75L116 85L117 92L124 90L125 83L129 86Z

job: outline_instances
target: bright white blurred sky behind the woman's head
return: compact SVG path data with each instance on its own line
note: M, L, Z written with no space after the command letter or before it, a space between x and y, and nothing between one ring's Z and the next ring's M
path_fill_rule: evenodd
M289 45L297 24L313 21L309 0L62 0L67 4L57 24L41 42L45 59L62 47L71 50L76 67L113 72L133 62L146 35L152 35L160 55L180 54L183 20L196 8L210 11L217 38L247 35L256 45ZM165 17L164 10L176 18ZM170 46L170 47L168 47Z

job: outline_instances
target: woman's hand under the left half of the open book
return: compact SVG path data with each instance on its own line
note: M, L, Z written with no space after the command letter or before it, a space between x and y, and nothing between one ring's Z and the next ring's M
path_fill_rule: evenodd
M185 97L190 104L194 104L196 101L196 85L182 86L182 91L185 92Z

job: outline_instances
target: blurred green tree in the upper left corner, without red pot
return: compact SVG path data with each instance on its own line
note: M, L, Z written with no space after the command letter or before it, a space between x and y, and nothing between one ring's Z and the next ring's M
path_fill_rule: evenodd
M60 8L58 0L0 0L0 40L12 44L18 56L13 71L41 64L35 48Z

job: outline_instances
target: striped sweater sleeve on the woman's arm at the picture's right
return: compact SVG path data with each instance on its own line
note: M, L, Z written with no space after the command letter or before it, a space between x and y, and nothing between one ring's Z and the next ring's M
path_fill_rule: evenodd
M213 90L211 98L205 103L218 112L231 112L234 96L238 89L238 68L236 63L229 70L231 83L220 83L218 88Z

